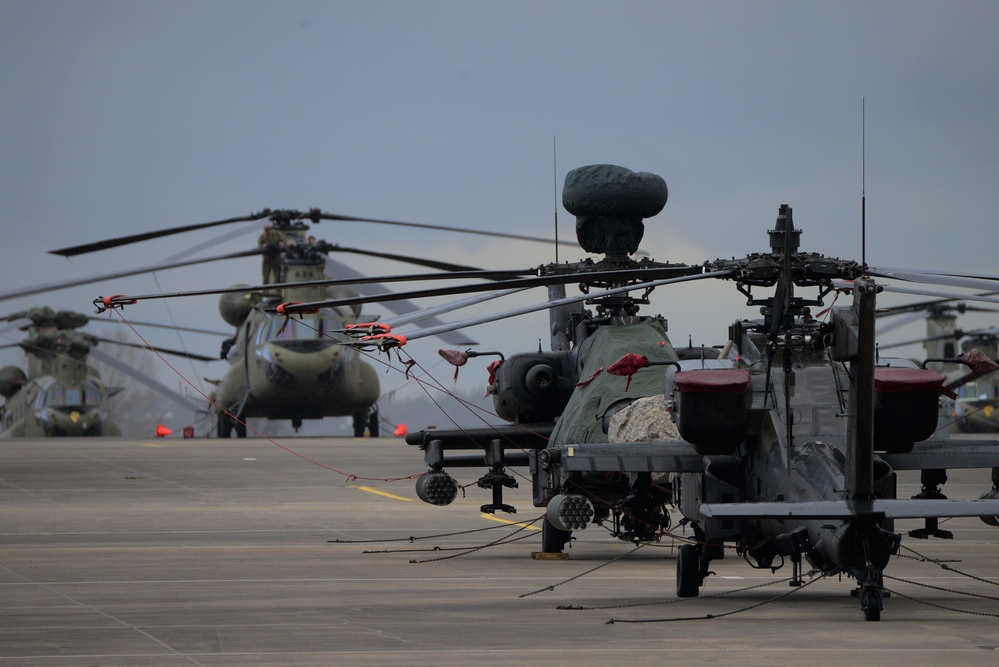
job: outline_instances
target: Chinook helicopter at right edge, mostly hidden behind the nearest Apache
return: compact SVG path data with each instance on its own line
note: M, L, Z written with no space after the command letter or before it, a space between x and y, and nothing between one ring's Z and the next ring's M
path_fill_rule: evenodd
M999 312L999 309L948 301L878 309L879 317L914 313L926 320L925 337L881 345L880 349L921 343L927 359L941 360L953 358L960 344L962 353L977 349L990 359L999 359L999 329L957 328L957 315L968 312L994 313ZM942 364L941 370L947 378L945 388L955 394L944 400L944 418L961 433L999 431L999 373L967 373L958 365L938 363Z

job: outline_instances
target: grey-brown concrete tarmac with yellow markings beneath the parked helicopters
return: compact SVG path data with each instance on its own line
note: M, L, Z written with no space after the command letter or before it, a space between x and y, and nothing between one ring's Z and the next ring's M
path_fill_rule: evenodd
M852 581L791 588L790 565L734 553L677 600L670 539L591 526L534 560L540 531L510 523L541 515L528 478L515 515L480 514L471 469L432 507L392 481L421 459L398 439L0 440L0 666L999 664L999 529L978 519L903 539L874 623ZM989 486L952 471L945 492Z

